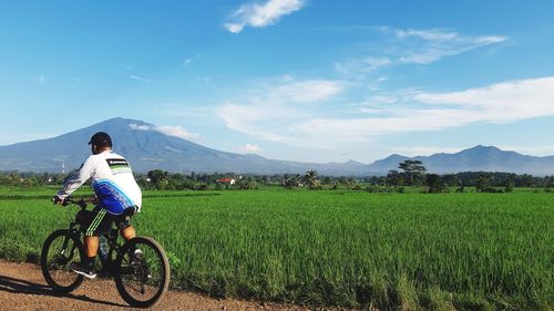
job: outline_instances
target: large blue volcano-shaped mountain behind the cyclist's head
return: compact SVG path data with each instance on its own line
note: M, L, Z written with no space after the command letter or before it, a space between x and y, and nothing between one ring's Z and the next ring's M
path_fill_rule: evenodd
M86 143L96 132L109 133L114 151L124 155L138 173L164 169L196 173L304 174L308 169L317 169L326 175L356 175L365 166L355 162L328 165L296 163L268 159L254 154L219 152L165 135L153 124L116 117L53 138L0 146L0 170L61 172L62 165L66 170L78 168L91 154Z

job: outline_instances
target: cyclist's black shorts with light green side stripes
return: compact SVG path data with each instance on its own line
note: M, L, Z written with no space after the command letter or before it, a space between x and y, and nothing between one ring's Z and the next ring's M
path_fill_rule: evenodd
M93 210L80 210L76 214L76 222L81 225L84 235L89 237L107 235L112 228L112 222L115 222L117 228L123 230L131 226L130 220L130 217L112 215L98 206Z

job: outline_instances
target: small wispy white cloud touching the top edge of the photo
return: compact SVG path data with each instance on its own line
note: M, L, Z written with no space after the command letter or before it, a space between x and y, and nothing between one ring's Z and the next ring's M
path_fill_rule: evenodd
M264 4L246 3L232 14L232 22L224 27L232 33L239 33L246 25L254 28L271 25L281 17L300 10L305 4L305 0L269 0Z

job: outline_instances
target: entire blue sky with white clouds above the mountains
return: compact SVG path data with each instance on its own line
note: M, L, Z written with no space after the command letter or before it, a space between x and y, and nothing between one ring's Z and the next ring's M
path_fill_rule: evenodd
M1 1L0 145L122 116L289 160L554 155L553 15L545 0Z

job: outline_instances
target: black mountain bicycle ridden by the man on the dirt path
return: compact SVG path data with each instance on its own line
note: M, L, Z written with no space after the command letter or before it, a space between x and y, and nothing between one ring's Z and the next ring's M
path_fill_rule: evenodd
M86 209L88 200L69 198L69 204ZM68 209L70 215L71 209ZM127 209L117 221L131 217L134 209ZM69 216L70 217L70 216ZM66 294L79 288L83 276L71 269L72 262L79 262L85 257L83 240L84 230L76 219L70 219L69 229L53 231L44 241L41 252L42 274L48 284L59 294ZM104 235L107 249L99 249L101 269L100 276L112 277L117 292L131 307L148 308L154 305L167 291L170 284L170 262L162 246L147 237L135 237L124 243L119 243L119 229L112 224L111 231ZM102 248L102 245L101 247ZM140 249L142 257L134 256Z

